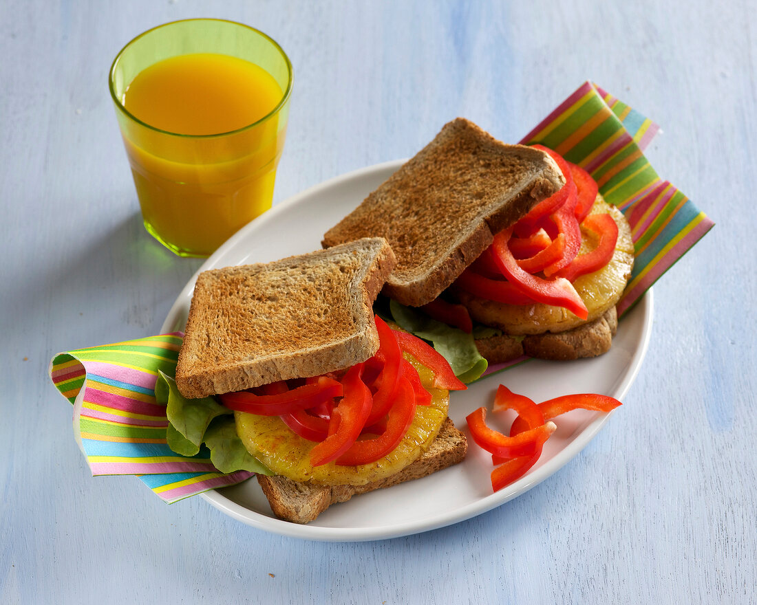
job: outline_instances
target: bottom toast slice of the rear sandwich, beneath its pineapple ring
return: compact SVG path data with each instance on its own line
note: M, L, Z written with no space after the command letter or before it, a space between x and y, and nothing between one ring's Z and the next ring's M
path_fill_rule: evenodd
M609 351L612 337L618 330L618 313L613 306L601 317L572 330L545 332L513 337L508 334L475 341L478 352L490 364L512 361L522 355L540 359L567 361L585 357L596 357Z

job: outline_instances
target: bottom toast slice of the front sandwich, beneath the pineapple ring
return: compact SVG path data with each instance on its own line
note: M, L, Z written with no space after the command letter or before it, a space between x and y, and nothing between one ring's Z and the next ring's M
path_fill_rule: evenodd
M282 476L257 475L257 482L268 498L271 510L285 521L310 523L332 504L344 502L357 494L396 486L451 467L466 457L466 436L447 418L431 447L412 464L392 476L363 486L316 486L292 481Z

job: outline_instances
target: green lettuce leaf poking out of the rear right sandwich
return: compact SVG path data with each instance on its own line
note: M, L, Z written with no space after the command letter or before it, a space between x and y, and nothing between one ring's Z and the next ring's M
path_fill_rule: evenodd
M488 362L476 349L472 334L431 319L425 313L400 305L396 300L389 303L389 308L394 321L403 330L423 340L430 340L437 352L447 359L456 377L464 383L477 380L488 368Z

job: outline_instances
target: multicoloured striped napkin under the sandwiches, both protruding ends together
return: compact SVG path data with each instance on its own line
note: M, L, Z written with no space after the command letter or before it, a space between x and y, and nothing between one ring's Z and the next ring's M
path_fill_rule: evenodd
M713 222L643 155L659 128L597 85L585 82L522 143L541 143L582 166L631 224L634 272L618 313L681 258ZM182 334L163 334L55 355L50 377L72 404L73 429L92 475L133 474L167 502L229 486L253 473L223 474L201 450L191 458L166 445L166 406L155 401L158 371L173 376Z

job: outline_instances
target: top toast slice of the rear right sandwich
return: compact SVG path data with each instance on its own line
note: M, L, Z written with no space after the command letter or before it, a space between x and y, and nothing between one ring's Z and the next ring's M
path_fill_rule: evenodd
M544 151L506 145L457 118L327 231L322 244L385 237L397 267L384 293L422 306L486 250L494 234L564 184Z

